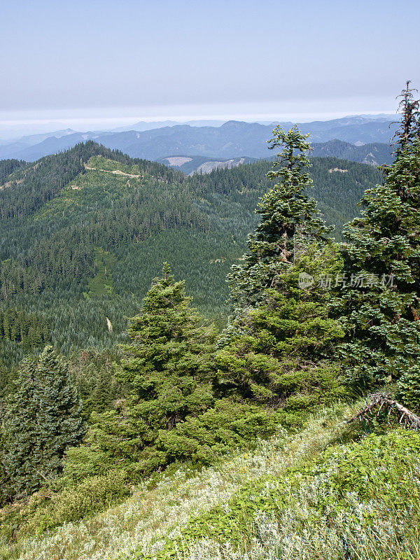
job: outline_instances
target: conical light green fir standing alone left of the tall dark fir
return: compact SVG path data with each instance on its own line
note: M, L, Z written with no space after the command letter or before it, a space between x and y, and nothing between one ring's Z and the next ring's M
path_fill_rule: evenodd
M132 318L132 355L123 362L120 380L129 384L136 414L155 430L171 430L187 414L198 414L211 400L212 328L190 307L185 283L174 281L165 263L154 279L141 313Z

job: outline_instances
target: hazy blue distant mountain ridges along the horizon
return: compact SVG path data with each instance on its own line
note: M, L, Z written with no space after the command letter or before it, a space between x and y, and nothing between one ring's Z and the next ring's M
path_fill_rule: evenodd
M313 144L339 140L363 147L365 144L388 144L396 124L391 118L368 118L352 116L328 121L301 123L300 130L309 133ZM138 123L141 125L142 123ZM144 124L144 123L143 123ZM17 142L0 146L0 159L35 161L44 155L52 155L76 146L80 141L94 140L106 148L118 149L132 158L162 160L176 155L203 156L210 159L269 158L267 139L272 136L275 123L244 123L230 120L220 126L191 126L188 124L165 126L151 130L127 130L123 132L73 132L62 130L55 135L45 134L22 137ZM290 128L293 123L279 123ZM34 144L38 136L41 141ZM330 149L330 148L325 148ZM334 149L338 149L335 146ZM350 149L346 149L351 153ZM372 150L370 151L372 152ZM369 152L369 153L370 153ZM357 157L358 153L355 152ZM377 147L369 155L373 165L384 161L385 148ZM330 154L332 155L332 154ZM337 157L346 157L335 153ZM356 157L356 155L354 157ZM368 153L365 154L367 157ZM368 158L368 159L369 159ZM353 159L353 158L351 158ZM361 160L356 161L364 161Z

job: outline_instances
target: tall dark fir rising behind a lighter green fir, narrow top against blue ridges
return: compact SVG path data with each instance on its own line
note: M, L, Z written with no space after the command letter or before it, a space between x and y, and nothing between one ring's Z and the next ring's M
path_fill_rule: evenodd
M302 242L326 241L332 227L318 215L316 200L307 194L313 186L306 169L310 167L307 153L311 150L307 137L295 125L283 132L277 125L269 149L277 153L273 169L267 176L279 181L262 198L256 209L261 222L248 236L248 253L241 265L232 266L228 276L232 300L250 304L260 299L261 290L273 285L276 276L295 260L297 237Z

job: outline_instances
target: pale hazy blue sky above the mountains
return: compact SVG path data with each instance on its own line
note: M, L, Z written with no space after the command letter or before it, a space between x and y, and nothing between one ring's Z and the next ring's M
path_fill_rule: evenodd
M417 0L1 0L0 134L393 113Z

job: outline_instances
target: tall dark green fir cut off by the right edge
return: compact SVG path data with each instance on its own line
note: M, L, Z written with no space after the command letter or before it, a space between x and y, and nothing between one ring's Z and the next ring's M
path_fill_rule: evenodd
M384 185L366 191L361 217L344 230L346 286L337 295L346 339L340 351L347 379L361 386L418 371L420 139L413 91L407 82L395 161L384 169Z

